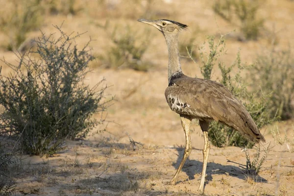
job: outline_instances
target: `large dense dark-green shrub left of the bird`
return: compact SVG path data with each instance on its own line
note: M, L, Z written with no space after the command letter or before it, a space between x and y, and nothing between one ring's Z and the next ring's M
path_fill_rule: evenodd
M85 137L103 123L92 120L92 115L107 108L103 80L93 88L84 83L94 60L89 43L79 50L73 45L79 35L70 37L55 27L59 38L42 33L35 41L37 51L19 56L18 66L3 60L13 72L8 77L0 74L0 134L20 137L23 152L40 156L62 149L66 138Z

